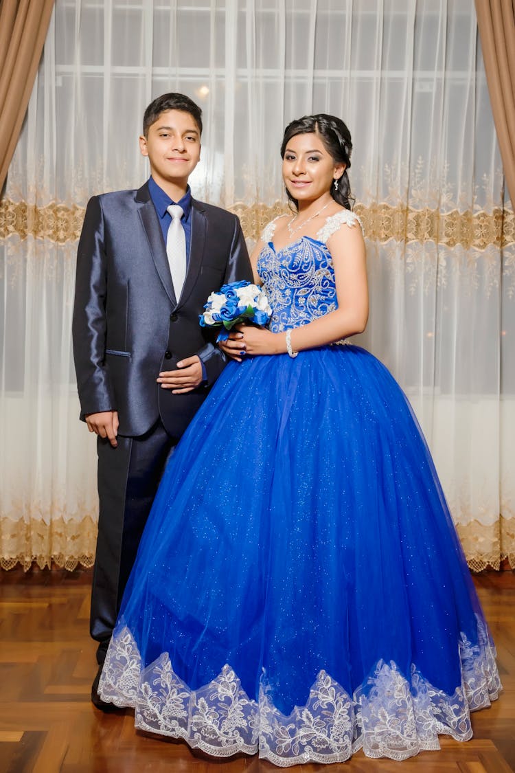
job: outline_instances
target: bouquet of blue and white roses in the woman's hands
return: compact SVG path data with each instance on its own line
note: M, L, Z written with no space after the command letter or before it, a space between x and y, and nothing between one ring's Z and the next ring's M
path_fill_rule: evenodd
M222 327L217 342L228 339L229 330L238 322L266 325L272 314L265 292L248 281L223 284L218 292L212 292L204 308L199 317L202 327Z

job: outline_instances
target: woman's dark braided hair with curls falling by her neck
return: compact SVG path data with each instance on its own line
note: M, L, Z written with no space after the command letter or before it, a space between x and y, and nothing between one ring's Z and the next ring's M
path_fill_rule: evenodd
M324 146L330 157L337 164L345 164L345 171L338 180L337 189L330 186L330 195L338 204L346 209L352 209L351 202L354 203L354 196L351 194L351 183L347 175L347 169L351 167L352 140L351 132L347 129L341 118L334 115L319 113L318 115L305 115L296 121L292 121L284 130L283 144L281 145L281 158L284 158L286 145L292 137L296 135L319 135L324 142ZM299 208L296 199L286 189L286 193L291 202Z

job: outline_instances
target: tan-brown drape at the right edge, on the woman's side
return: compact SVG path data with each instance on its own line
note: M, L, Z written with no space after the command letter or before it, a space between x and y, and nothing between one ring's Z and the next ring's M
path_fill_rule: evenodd
M508 192L515 203L515 0L476 0L477 25Z

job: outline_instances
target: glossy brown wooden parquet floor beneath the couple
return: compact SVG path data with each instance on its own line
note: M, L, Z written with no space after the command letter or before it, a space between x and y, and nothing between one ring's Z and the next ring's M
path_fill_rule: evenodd
M310 764L293 773L509 773L515 771L515 574L475 578L496 641L504 691L473 714L466 744L404 762ZM272 764L239 756L212 761L181 742L134 730L130 710L103 714L90 703L96 673L88 635L90 572L0 572L0 771L2 773L272 773Z

